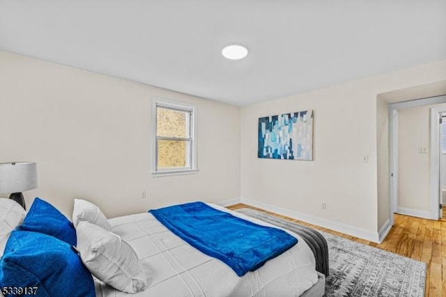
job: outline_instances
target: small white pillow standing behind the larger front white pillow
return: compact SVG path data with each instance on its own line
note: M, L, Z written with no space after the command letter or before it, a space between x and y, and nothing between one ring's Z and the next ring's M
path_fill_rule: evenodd
M90 201L83 199L75 199L75 207L72 210L72 223L77 228L79 222L86 221L110 231L112 227L105 217L104 213L100 211L99 207Z

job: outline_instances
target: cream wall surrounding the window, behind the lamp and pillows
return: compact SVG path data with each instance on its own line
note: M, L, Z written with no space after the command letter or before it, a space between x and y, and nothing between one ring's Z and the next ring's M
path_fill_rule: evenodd
M153 96L197 105L197 174L151 176ZM0 52L0 135L0 162L38 163L26 204L68 216L75 197L112 217L240 194L240 109L183 93Z

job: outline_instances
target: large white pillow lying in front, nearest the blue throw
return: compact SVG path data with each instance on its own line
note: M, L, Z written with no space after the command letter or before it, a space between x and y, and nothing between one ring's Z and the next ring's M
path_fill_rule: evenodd
M79 222L76 234L77 250L92 275L126 293L146 289L137 254L121 237L89 222Z

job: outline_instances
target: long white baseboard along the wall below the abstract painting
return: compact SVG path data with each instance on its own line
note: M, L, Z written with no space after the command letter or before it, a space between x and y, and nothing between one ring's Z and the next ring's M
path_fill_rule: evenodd
M285 215L289 218L295 220L300 220L302 222L307 222L309 224L315 224L319 227L327 228L333 231L338 231L343 234L348 234L355 236L357 238L365 239L366 241L373 241L374 243L380 243L380 236L378 232L369 231L367 229L358 228L350 224L344 224L341 222L334 222L332 220L327 220L323 218L315 217L314 215L307 215L305 213L300 213L298 211L290 211L286 208L281 208L278 206L273 206L271 204L266 204L264 202L254 201L250 199L240 198L240 202L243 204L248 204L251 206L262 208L266 211L271 211L273 213L278 213L279 215Z

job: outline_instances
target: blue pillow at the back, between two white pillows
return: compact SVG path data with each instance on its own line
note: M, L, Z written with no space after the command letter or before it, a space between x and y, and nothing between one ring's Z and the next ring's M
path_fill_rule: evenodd
M72 222L57 208L38 197L17 229L47 234L69 245L76 245L76 229Z

